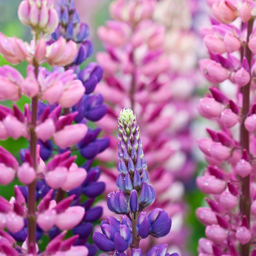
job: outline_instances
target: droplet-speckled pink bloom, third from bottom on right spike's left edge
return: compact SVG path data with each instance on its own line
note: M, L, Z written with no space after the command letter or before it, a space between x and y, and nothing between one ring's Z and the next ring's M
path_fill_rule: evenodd
M205 194L220 194L226 187L226 182L215 178L215 176L198 177L196 183Z

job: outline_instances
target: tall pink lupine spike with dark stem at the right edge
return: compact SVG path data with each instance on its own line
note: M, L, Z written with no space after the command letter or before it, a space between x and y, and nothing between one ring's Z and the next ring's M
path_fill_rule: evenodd
M210 93L199 101L198 111L216 122L219 131L207 129L210 138L198 141L209 166L197 178L197 186L210 196L206 199L210 208L200 207L196 212L206 226L207 237L200 239L198 252L249 255L255 237L256 6L253 1L207 2L215 19L209 29L202 30L210 58L202 59L199 65L211 87ZM233 91L224 92L227 80L233 83Z

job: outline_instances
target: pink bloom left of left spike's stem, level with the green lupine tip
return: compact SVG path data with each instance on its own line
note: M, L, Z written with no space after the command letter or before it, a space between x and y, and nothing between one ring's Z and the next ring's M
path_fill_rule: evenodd
M27 126L20 122L16 117L8 115L4 120L3 124L9 134L13 139L18 139L19 137L28 138Z

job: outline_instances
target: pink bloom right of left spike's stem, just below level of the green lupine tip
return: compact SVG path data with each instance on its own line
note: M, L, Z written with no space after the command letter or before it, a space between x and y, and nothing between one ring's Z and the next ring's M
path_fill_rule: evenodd
M67 125L53 135L53 140L60 148L71 147L78 143L87 131L87 126L82 123Z

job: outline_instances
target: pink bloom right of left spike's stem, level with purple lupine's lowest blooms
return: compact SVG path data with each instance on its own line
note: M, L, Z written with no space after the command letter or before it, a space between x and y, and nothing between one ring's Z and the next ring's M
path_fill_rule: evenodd
M66 211L57 215L56 226L60 230L69 230L81 222L84 213L84 208L81 206L69 207Z

